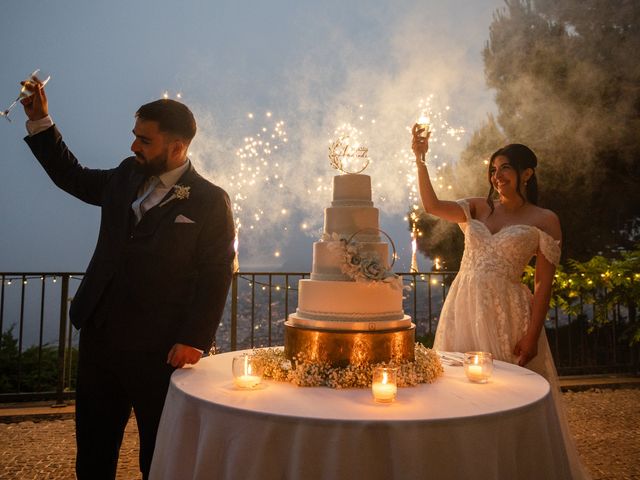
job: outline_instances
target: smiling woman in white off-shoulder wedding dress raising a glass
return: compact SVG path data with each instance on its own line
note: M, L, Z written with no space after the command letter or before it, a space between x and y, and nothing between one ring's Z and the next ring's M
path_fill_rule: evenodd
M413 128L420 197L426 212L456 222L465 235L460 271L436 330L434 349L491 352L497 360L529 368L551 384L573 478L588 478L568 430L544 320L562 233L555 213L536 205L537 159L521 144L501 148L489 162L487 198L440 200L425 163L429 132ZM534 293L521 282L536 256Z

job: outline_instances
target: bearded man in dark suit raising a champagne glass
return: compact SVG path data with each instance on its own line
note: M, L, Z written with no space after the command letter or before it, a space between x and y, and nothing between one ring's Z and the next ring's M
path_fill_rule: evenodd
M229 197L187 158L196 124L182 103L140 107L134 156L93 170L62 141L43 86L27 86L33 154L57 186L101 208L96 249L69 313L80 329L77 475L115 478L133 408L147 478L169 377L208 352L222 316L234 259Z

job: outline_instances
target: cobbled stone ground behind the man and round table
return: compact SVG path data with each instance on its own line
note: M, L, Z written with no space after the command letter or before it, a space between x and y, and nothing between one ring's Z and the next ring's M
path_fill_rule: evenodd
M592 388L563 395L578 451L594 480L640 479L640 389ZM70 415L0 418L8 422L0 423L0 479L75 478ZM134 418L125 432L117 478L141 478Z

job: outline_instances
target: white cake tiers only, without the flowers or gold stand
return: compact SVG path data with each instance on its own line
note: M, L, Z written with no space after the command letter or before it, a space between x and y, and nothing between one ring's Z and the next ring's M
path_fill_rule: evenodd
M402 288L394 282L355 281L344 271L344 243L357 254L389 265L389 245L379 233L378 209L371 201L371 178L347 174L333 179L333 201L325 209L324 235L313 245L310 279L298 283L292 326L319 330L394 330L411 326L402 309Z

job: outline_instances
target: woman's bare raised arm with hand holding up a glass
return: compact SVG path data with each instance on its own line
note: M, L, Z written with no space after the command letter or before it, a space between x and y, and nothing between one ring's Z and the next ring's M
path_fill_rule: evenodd
M467 218L464 214L462 207L451 200L440 200L436 195L431 179L429 178L429 171L427 170L427 164L423 161L429 151L429 136L431 132L427 132L426 136L422 136L424 128L420 128L418 124L413 126L413 141L411 143L411 149L416 155L416 168L418 169L418 187L420 188L420 199L422 200L422 206L427 213L440 217L443 220L449 222L466 222Z

